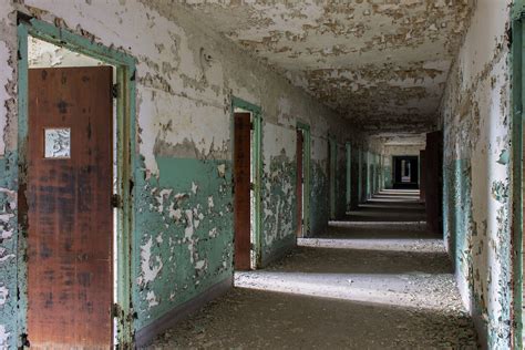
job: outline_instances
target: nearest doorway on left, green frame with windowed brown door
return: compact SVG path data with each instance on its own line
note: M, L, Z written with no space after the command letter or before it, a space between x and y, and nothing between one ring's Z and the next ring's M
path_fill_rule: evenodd
M19 23L19 332L37 348L125 347L134 59Z

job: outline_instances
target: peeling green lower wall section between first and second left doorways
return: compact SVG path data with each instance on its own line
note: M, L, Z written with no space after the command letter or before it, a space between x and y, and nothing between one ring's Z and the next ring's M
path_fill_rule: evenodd
M136 172L136 329L233 274L230 162L156 162L157 177Z

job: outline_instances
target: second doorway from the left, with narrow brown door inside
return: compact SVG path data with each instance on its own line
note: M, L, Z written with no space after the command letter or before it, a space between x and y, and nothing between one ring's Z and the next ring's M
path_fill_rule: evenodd
M234 97L234 268L260 265L260 109Z

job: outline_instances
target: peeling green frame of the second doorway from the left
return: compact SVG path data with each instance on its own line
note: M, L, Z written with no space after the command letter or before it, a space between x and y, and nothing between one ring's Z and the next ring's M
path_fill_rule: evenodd
M262 239L261 239L261 181L262 181L262 110L253 103L243 99L231 96L231 113L230 113L230 130L231 130L231 150L234 153L233 162L235 162L235 109L243 109L253 115L254 123L254 140L251 150L251 172L254 173L254 253L255 253L255 268L261 266L262 259ZM231 163L233 163L231 162ZM234 225L235 223L231 223ZM234 233L235 237L235 233Z

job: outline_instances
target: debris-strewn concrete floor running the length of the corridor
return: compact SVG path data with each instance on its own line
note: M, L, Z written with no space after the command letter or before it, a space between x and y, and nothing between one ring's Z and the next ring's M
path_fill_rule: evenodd
M385 191L226 296L156 349L475 349L439 237L413 191Z

